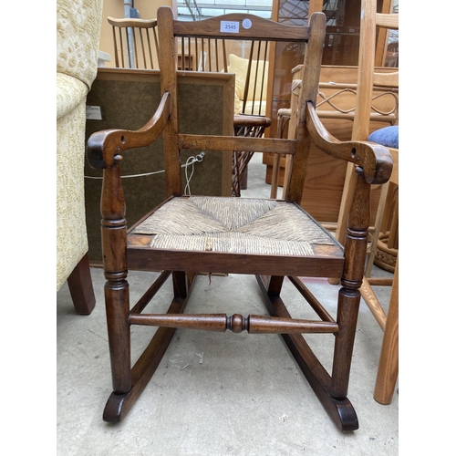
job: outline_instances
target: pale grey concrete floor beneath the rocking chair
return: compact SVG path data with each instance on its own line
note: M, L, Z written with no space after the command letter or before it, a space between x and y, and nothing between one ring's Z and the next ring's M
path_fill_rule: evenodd
M243 196L268 197L261 156L249 165ZM130 272L131 302L154 273ZM378 268L375 275L389 275ZM399 394L389 406L373 399L382 331L364 302L358 317L349 399L359 430L341 432L330 420L283 339L275 335L178 330L140 399L121 423L102 420L111 392L104 312L103 271L92 269L97 306L78 316L67 285L57 293L57 454L59 456L266 456L399 454ZM333 313L337 286L325 279L306 284ZM159 303L171 301L165 286ZM389 287L377 288L388 309ZM284 301L294 316L306 306L285 283ZM299 304L301 304L300 301ZM254 277L199 276L187 307L211 313L266 314ZM159 312L161 310L158 310ZM154 329L134 326L133 357ZM307 340L326 369L334 337Z

